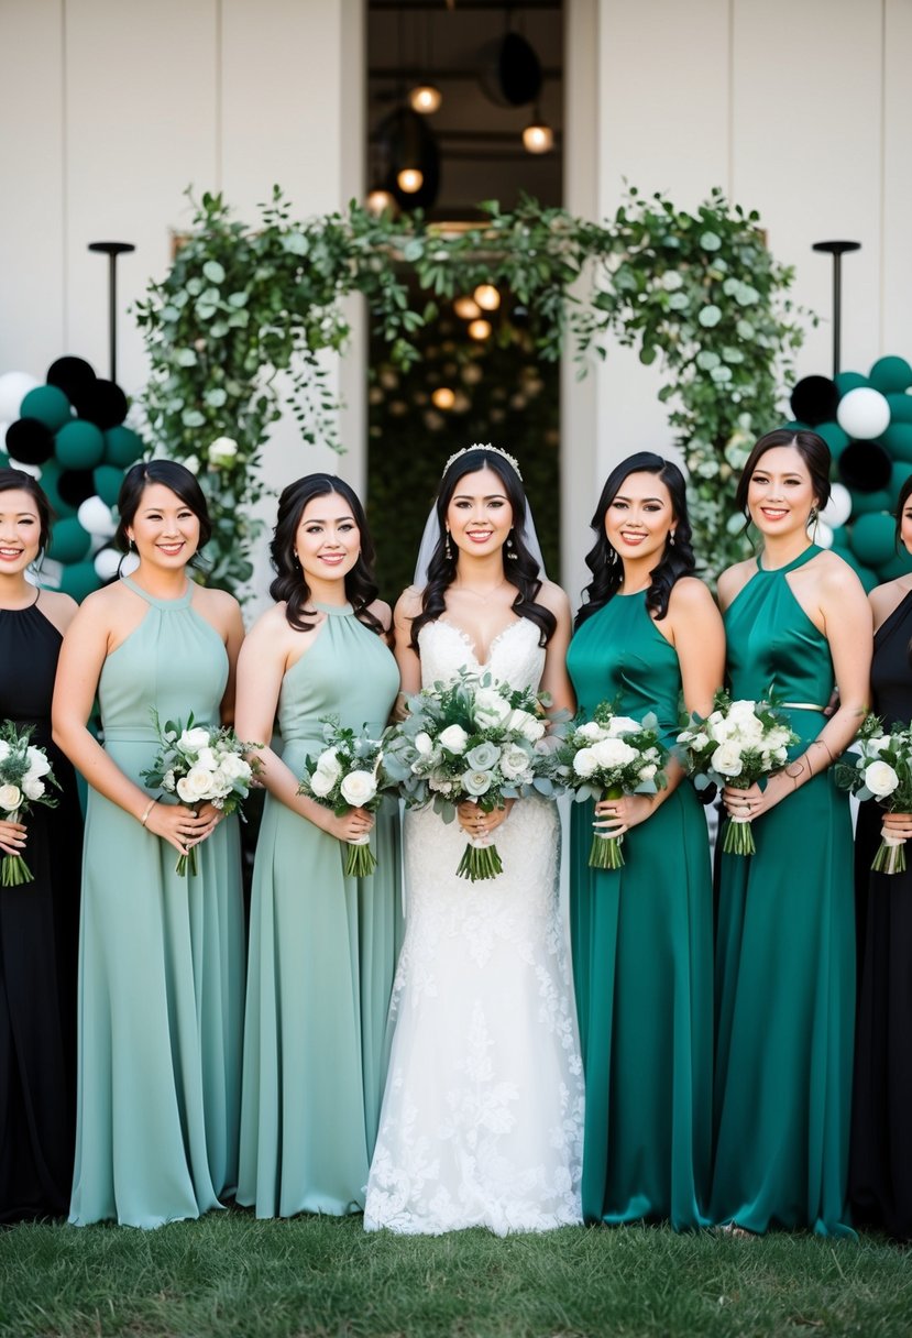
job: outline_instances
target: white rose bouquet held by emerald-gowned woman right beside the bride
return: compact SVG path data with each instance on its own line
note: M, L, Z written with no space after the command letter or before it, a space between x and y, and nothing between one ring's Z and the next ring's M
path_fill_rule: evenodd
M555 761L558 777L576 803L655 795L667 785L669 751L659 739L657 717L650 713L637 721L619 716L607 701L599 702L591 720L568 732ZM622 840L596 830L590 868L623 868Z

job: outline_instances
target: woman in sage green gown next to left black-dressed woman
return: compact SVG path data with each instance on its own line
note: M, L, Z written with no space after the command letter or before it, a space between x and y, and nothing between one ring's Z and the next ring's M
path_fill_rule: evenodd
M231 720L243 628L231 595L190 579L211 526L189 470L135 464L118 508L139 566L86 599L53 696L55 737L90 785L70 1220L156 1227L237 1184L243 907L237 819L158 803L139 773L152 710ZM96 692L104 747L86 728ZM199 842L199 874L178 876Z

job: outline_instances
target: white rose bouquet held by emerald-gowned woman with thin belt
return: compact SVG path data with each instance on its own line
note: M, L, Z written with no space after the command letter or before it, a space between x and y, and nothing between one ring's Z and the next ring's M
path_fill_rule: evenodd
M765 776L780 771L789 760L789 748L798 743L782 706L770 692L761 701L733 701L717 692L706 720L691 716L678 735L677 753L694 788L710 783L719 788L749 789ZM750 818L729 818L722 851L726 855L753 855L757 847Z

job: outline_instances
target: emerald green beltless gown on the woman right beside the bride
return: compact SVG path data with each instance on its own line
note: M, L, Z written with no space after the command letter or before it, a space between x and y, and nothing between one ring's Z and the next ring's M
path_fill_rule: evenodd
M575 633L580 709L658 716L678 732L681 669L646 594L615 595ZM570 926L586 1073L583 1216L699 1227L710 1189L713 887L703 808L682 781L623 838L624 866L588 867L592 801L571 814Z

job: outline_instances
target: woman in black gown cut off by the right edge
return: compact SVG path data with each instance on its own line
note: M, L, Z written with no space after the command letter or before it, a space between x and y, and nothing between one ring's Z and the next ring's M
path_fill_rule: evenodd
M896 539L912 553L912 476L896 508ZM892 725L912 720L912 575L877 586L871 668L873 710ZM856 888L861 949L849 1192L857 1222L912 1239L912 863L905 874L872 874L881 826L912 838L912 815L861 804ZM909 859L907 847L907 860Z

